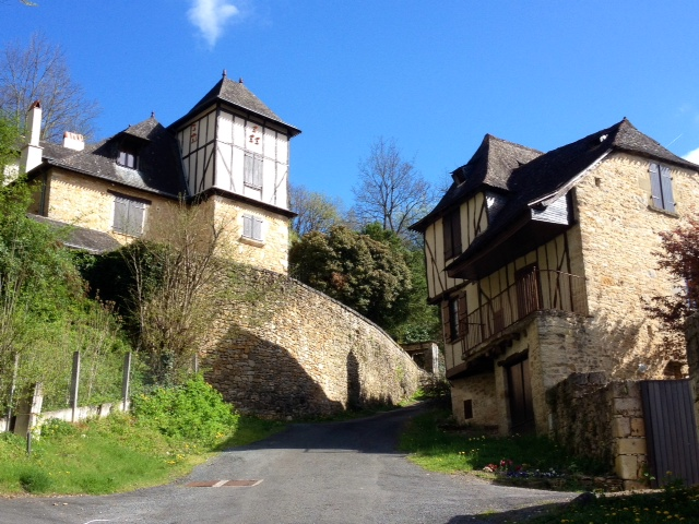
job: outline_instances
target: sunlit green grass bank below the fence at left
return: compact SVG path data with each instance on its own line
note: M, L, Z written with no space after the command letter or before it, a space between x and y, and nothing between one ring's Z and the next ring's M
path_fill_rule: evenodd
M187 475L215 450L283 428L242 416L236 426L213 445L202 445L166 437L121 414L79 425L49 424L34 439L31 456L25 439L0 433L0 495L103 495L157 486Z

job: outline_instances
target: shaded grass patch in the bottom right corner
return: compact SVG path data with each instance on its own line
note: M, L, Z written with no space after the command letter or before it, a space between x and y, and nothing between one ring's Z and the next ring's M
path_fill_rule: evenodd
M699 523L699 487L660 492L599 497L584 505L568 504L561 510L532 519L535 524L657 524Z

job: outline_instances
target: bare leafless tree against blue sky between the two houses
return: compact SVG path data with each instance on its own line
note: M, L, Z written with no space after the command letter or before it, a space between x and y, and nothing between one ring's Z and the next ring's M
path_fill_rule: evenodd
M383 229L410 237L434 195L429 183L405 160L393 139L379 138L359 164L359 184L353 188L354 213L362 225L378 222Z

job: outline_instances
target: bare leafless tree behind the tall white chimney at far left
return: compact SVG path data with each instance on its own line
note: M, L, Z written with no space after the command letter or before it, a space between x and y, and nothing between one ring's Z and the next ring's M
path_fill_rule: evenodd
M38 33L32 35L26 48L14 41L0 50L0 111L23 130L29 106L36 100L43 109L42 140L59 143L64 131L88 139L95 135L99 106L87 100L70 78L61 47Z

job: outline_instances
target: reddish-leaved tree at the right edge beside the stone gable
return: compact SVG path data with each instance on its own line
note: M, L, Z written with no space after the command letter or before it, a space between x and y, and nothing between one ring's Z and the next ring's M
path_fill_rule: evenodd
M657 265L676 278L677 293L652 297L645 309L661 321L665 342L672 345L682 341L687 319L699 311L699 216L688 217L660 237L663 249L656 253Z

